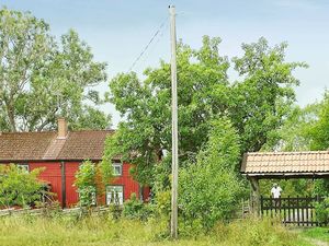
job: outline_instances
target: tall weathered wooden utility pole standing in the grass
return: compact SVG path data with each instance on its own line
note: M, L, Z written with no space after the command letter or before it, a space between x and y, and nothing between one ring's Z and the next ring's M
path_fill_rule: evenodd
M171 106L172 106L172 187L171 187L171 237L178 237L178 103L175 65L175 11L169 5L171 39Z

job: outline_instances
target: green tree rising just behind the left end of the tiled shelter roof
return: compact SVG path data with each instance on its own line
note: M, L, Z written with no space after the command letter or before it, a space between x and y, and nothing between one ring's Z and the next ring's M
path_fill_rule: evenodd
M259 151L283 125L295 102L293 75L304 62L286 62L283 43L273 48L266 39L243 44L243 56L234 58L242 81L232 84L229 117L241 138L241 153Z

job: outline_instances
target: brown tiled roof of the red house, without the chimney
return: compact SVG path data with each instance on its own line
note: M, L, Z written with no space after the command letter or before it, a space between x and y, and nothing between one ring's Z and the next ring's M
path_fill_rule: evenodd
M101 160L104 141L113 130L57 132L13 132L0 134L0 162Z

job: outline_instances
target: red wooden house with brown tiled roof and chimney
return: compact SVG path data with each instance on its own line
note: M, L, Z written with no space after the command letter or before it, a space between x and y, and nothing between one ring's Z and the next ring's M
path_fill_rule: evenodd
M14 163L26 171L45 167L39 178L48 183L63 207L78 202L79 195L75 174L84 160L98 163L102 160L104 141L113 130L68 131L64 118L58 119L58 131L47 132L0 132L0 163ZM116 176L106 188L102 203L110 203L111 192L118 192L120 202L129 199L133 192L143 200L149 190L139 186L129 175L131 164L113 162Z

